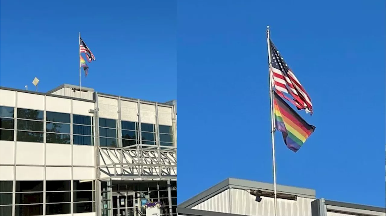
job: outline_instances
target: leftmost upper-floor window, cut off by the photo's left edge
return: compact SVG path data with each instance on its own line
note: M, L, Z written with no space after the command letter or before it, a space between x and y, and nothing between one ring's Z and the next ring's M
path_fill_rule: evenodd
M15 108L0 106L0 140L14 141Z

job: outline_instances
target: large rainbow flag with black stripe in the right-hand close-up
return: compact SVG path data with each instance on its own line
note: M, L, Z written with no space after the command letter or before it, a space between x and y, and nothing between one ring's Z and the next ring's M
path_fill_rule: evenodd
M296 152L315 131L315 126L301 118L276 92L273 102L276 130L283 134L287 148Z

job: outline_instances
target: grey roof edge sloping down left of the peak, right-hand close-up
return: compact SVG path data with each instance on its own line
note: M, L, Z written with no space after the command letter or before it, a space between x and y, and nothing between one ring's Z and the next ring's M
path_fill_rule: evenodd
M213 196L225 191L226 189L229 189L229 178L221 181L220 183L215 184L214 186L206 189L205 191L202 191L201 193L197 194L196 196L193 196L192 198L184 201L183 203L179 204L178 208L192 208L193 206L212 198Z

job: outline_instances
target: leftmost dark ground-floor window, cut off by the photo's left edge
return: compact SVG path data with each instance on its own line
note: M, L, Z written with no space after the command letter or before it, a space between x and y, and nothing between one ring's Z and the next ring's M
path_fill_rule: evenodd
M12 215L12 181L0 181L0 215Z

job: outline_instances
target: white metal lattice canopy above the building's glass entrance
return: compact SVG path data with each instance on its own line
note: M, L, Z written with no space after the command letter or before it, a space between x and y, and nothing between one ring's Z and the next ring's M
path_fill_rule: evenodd
M137 148L98 147L98 179L176 180L177 152L136 146ZM144 148L139 148L144 147Z

